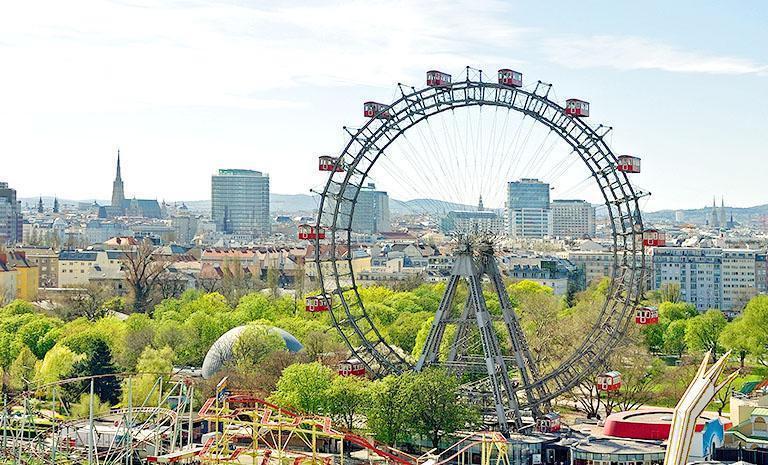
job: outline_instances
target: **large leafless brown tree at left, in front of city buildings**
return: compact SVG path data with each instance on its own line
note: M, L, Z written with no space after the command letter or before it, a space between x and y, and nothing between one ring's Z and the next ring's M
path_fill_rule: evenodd
M135 250L124 249L123 268L125 279L133 291L133 311L149 313L152 296L161 276L171 262L154 255L155 247L148 239L143 240Z

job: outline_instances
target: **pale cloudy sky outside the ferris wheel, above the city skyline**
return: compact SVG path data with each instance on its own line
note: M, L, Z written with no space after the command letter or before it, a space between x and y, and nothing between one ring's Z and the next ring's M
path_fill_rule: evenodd
M646 209L768 203L766 24L760 0L8 2L0 181L108 199L119 148L128 196L206 199L218 168L309 193L362 102L510 67L591 102Z

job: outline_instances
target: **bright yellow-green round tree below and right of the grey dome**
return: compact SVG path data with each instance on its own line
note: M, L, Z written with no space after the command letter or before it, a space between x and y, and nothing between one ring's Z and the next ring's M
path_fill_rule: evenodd
M270 399L302 413L321 414L328 404L334 373L318 362L296 363L283 370Z

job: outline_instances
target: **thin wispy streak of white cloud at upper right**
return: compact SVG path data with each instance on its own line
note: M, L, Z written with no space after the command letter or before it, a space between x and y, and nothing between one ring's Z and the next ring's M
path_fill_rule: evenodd
M548 59L569 68L657 69L680 73L764 74L768 66L687 51L641 37L558 37L544 42Z

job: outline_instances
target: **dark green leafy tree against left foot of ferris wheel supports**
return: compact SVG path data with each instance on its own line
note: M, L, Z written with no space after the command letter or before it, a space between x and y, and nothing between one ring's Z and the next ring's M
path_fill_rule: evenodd
M478 413L459 396L459 380L440 369L417 373L408 383L412 404L412 428L437 448L440 440L466 428L479 418Z

